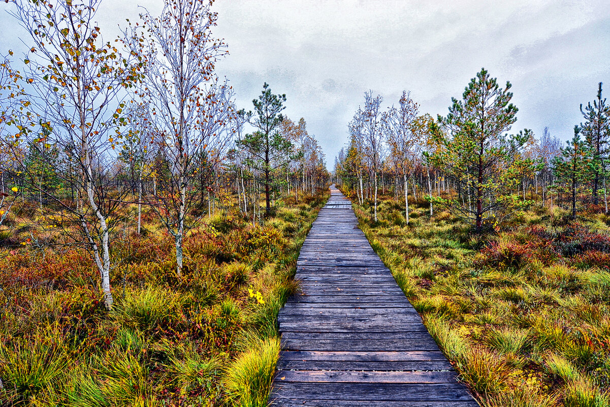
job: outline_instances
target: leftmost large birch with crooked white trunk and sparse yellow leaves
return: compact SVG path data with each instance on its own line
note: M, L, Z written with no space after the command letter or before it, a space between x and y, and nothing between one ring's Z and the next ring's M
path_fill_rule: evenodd
M98 268L104 302L110 308L110 235L121 200L109 199L110 173L102 170L124 122L123 89L138 82L142 61L121 55L102 39L95 23L99 0L11 2L15 11L10 13L32 40L24 58L27 100L36 122L46 130L30 141L61 146L65 160L76 168L73 176L56 168L76 189L75 206L54 193L41 192L79 226L81 243Z

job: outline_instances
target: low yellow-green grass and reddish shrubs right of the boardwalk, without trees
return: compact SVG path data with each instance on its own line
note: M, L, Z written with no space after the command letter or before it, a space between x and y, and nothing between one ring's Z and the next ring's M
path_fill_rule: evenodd
M375 251L479 403L610 406L610 217L555 207L475 235L448 212L354 204Z

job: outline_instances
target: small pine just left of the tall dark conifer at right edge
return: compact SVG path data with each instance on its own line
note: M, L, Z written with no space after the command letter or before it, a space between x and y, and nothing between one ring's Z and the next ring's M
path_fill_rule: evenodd
M554 189L558 193L568 193L572 203L572 217L576 217L576 203L594 167L595 151L580 139L581 128L574 126L574 137L561 148L561 154L555 157L553 173Z

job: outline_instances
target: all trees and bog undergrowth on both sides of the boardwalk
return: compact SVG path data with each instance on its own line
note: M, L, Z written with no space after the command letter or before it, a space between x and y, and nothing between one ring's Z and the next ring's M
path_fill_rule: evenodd
M213 1L100 1L7 1L0 406L266 406L331 182L482 406L610 406L601 83L567 142L484 69L437 118L365 92L331 174L290 95L236 106Z

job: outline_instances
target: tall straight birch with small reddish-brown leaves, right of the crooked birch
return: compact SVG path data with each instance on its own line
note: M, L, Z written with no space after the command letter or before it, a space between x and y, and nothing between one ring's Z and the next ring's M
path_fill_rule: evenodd
M182 274L184 235L199 221L192 215L199 197L193 179L203 170L198 157L205 154L207 164L220 159L234 114L232 88L214 73L215 63L228 52L212 34L218 18L212 2L164 0L160 16L140 15L143 30L130 23L125 32L132 54L146 61L146 88L140 96L159 133L169 175L165 185L157 186L151 207L174 238L177 275Z

